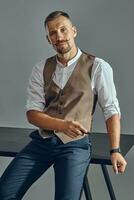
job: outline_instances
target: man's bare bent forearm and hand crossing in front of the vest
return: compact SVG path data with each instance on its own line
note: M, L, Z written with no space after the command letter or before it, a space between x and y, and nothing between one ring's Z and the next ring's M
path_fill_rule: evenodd
M27 111L27 119L29 123L47 130L64 132L71 138L83 135L87 130L77 121L68 121L55 117L51 117L44 112L37 110Z

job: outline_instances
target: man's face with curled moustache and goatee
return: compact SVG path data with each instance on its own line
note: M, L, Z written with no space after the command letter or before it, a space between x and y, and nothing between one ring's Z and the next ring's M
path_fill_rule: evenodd
M49 21L46 31L49 42L58 53L65 54L75 48L74 38L77 35L77 31L66 17L59 16Z

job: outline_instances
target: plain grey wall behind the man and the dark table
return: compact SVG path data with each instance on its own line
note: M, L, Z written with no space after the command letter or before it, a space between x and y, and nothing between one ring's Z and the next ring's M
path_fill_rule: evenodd
M32 67L54 51L45 39L43 21L54 10L68 12L78 29L78 46L108 61L122 112L122 133L133 133L133 0L0 0L0 126L31 127L26 122L26 87ZM106 131L97 107L93 131ZM126 156L123 175L109 173L118 200L133 200L134 149ZM0 174L11 159L0 158ZM24 200L52 200L53 170L41 177ZM89 180L95 200L109 200L99 166L92 165ZM83 196L84 200L84 196Z

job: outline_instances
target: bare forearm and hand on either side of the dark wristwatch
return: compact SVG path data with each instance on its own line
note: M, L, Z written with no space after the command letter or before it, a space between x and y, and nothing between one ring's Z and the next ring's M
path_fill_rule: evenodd
M120 147L120 116L118 114L113 115L106 120L107 132L109 136L111 149L116 149ZM118 172L122 173L126 168L126 161L121 155L121 153L112 153L111 162L113 165L113 170L116 174Z

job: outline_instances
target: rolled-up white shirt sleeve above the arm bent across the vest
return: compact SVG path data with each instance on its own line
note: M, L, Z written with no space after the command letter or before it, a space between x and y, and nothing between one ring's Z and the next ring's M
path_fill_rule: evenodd
M43 111L45 107L45 93L43 80L44 62L33 67L27 87L27 102L25 109Z

